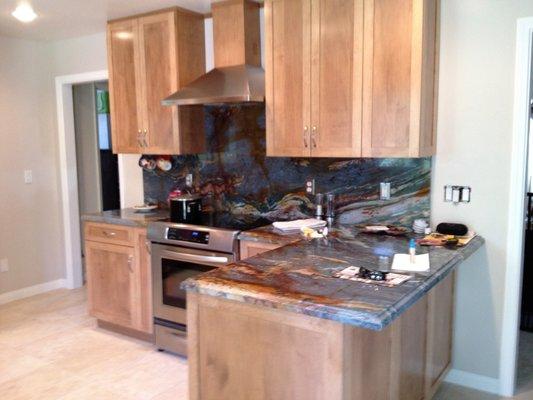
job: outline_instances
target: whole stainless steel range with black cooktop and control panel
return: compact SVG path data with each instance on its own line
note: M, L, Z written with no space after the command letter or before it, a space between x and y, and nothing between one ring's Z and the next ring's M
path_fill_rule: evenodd
M239 220L223 214L201 214L196 225L152 222L152 282L155 343L159 349L187 354L187 299L180 285L186 279L239 259L241 230L269 221Z

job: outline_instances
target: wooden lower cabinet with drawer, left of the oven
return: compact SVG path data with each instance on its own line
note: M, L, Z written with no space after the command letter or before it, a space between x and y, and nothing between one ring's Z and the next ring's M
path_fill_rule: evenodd
M85 225L85 263L89 314L117 327L153 333L152 279L146 229L129 230L130 245L116 244L113 237L90 236L95 226ZM108 230L113 232L113 225Z

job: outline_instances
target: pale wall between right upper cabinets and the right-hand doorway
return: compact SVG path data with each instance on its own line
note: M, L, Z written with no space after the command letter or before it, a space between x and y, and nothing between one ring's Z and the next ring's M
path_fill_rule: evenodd
M454 379L498 384L506 270L516 20L530 0L444 0L432 222L463 222L486 246L458 273ZM443 186L472 186L444 203ZM460 371L475 374L461 375ZM457 372L457 371L456 371ZM488 378L488 379L486 379ZM475 382L474 382L475 384Z

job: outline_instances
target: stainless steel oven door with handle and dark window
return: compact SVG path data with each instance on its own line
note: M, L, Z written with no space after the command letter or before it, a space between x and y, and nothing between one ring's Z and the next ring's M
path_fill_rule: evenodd
M233 261L232 254L152 243L154 316L186 325L187 298L181 283Z

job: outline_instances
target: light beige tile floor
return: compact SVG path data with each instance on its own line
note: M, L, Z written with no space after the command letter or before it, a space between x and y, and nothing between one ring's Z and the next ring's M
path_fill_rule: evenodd
M533 399L533 334L521 337L517 400ZM84 290L0 306L0 399L186 400L187 362L96 326ZM497 400L444 384L434 400Z

